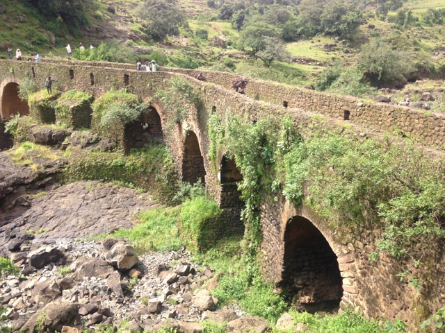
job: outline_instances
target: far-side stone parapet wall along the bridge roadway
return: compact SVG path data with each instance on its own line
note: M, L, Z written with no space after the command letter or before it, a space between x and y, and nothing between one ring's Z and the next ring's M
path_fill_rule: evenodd
M79 62L63 62L70 65ZM82 62L80 62L82 63ZM90 62L85 62L90 65ZM98 62L97 67L121 68L134 70L134 65ZM201 71L160 67L160 71L179 73L195 78L200 72L207 78L207 83L214 83L226 89L232 89L232 81L241 76L220 71ZM147 75L153 75L147 73ZM248 79L245 94L252 99L284 105L287 108L301 108L316 114L324 114L334 119L348 120L378 130L399 130L405 135L413 135L430 144L445 144L445 114L426 112L398 105L364 102L351 96L339 96L314 90L293 87L265 80Z

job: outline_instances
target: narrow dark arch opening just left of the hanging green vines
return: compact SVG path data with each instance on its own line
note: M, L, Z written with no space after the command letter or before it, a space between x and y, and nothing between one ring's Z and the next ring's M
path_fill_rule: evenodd
M241 192L238 191L238 182L243 180L243 175L236 166L233 158L229 158L227 154L223 155L220 164L219 178L221 182L221 193L219 206L220 208L227 207L242 207L244 206L241 200Z

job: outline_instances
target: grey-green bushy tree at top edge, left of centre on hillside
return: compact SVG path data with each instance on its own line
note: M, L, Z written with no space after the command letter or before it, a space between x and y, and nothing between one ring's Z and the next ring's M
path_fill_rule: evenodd
M165 0L145 0L136 12L145 19L147 34L154 40L179 35L179 28L188 26L184 12L175 3Z

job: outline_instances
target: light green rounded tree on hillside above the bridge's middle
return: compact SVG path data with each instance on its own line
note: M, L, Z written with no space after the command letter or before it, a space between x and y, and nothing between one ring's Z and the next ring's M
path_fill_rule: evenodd
M243 26L243 30L239 34L238 46L241 49L252 49L252 54L257 56L257 52L266 47L265 37L279 37L282 31L264 21L250 19Z

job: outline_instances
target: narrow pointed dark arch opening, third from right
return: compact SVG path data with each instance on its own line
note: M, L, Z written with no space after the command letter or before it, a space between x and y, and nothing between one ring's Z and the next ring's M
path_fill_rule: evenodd
M193 131L188 131L184 141L184 157L182 159L182 180L195 184L201 180L205 183L206 170L204 169L204 158L201 154L200 143Z

